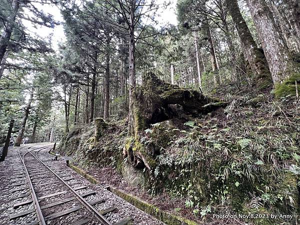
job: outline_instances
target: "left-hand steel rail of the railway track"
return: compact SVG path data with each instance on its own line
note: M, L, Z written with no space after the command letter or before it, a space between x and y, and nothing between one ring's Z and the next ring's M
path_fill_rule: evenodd
M24 156L30 152L30 151L27 151L25 154L23 154L21 156L21 153L20 153L20 149L24 148L24 147L27 147L27 149L29 149L30 147L34 146L33 145L30 145L30 146L23 146L23 147L20 147L18 149L18 154L21 158L21 161L23 163L23 167L24 167L24 170L25 170L25 173L26 173L26 178L27 178L27 181L28 181L28 184L29 184L29 189L30 189L30 193L31 193L31 197L32 197L32 201L33 201L33 204L34 204L34 208L35 208L35 211L36 211L36 215L37 215L37 219L38 219L38 223L40 225L46 225L46 222L43 218L43 215L42 215L42 212L41 212L41 209L40 209L40 206L39 206L39 203L38 203L38 200L37 200L37 197L36 197L36 194L34 192L34 188L33 188L33 185L32 185L32 182L31 182L31 179L30 179L30 176L29 176L29 173L28 173L28 170L26 168L26 165L25 165L25 162L24 162ZM49 145L50 146L50 145ZM38 148L34 148L32 150L36 150L36 149L40 149L40 148L47 148L49 146L42 146L42 147L38 147ZM41 150L41 149L40 149ZM31 153L31 152L30 152Z

